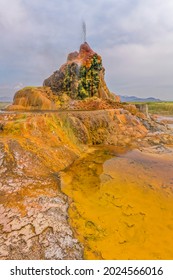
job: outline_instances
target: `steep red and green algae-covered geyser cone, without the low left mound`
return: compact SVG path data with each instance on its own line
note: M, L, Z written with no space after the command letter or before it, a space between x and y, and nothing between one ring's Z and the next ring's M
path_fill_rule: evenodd
M67 62L44 81L44 86L49 86L56 95L66 93L72 99L97 96L115 100L116 96L105 83L104 72L101 56L85 42L80 46L79 53L68 55Z

